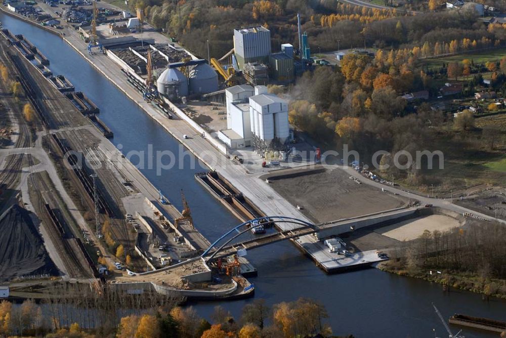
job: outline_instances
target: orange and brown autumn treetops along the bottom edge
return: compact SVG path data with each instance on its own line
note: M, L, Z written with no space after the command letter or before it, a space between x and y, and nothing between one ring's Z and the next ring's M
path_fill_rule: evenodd
M86 300L82 300L85 302ZM71 312L82 320L89 309L72 306ZM113 310L113 309L111 309ZM65 309L68 311L68 308ZM113 311L114 312L114 311ZM97 322L93 329L82 329L77 322L67 327L48 316L43 308L31 300L15 306L0 303L0 336L46 337L117 337L117 338L290 338L330 337L332 330L324 306L310 299L300 298L267 306L258 299L242 309L236 319L221 306L215 307L210 322L199 317L192 307L181 308L167 303L151 310L132 309L132 314L119 320ZM79 314L80 313L80 314ZM100 325L100 326L99 326ZM99 326L99 327L97 327ZM352 336L348 336L351 338Z

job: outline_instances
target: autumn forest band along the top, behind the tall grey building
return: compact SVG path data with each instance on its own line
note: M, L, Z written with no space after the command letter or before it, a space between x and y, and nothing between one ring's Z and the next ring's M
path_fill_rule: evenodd
M427 7L427 2L423 3ZM311 48L319 51L367 47L440 46L466 37L492 45L501 39L473 10L427 12L415 16L396 9L368 9L333 0L134 0L156 28L178 39L197 55L221 57L233 48L233 29L264 25L271 30L273 51L282 43L298 44L297 13ZM426 8L427 10L428 8ZM438 47L438 46L436 46Z

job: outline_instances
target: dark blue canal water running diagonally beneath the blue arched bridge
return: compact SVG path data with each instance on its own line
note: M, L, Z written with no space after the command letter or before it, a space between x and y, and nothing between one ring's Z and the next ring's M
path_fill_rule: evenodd
M152 145L155 152L177 151L179 144L172 136L58 36L3 13L0 13L0 21L14 34L25 35L50 60L49 68L55 75L65 75L76 91L86 93L98 105L100 118L114 132L112 142L121 145L123 153L130 150L147 153L148 145ZM180 190L184 189L196 227L212 241L238 221L195 181L194 173L206 168L198 161L195 168L190 168L190 161L191 156L185 156L183 168L177 165L162 176L157 176L154 168L141 171L180 209ZM256 298L266 299L269 304L294 301L299 297L318 300L325 305L336 335L432 337L435 328L437 336L445 337L447 333L434 313L433 302L445 318L458 312L506 320L506 303L483 302L480 295L470 292L445 294L439 284L376 269L326 275L289 242L252 250L248 259L259 270L258 277L250 278L256 285ZM238 318L241 308L250 301L195 303L193 306L201 316L209 318L213 308L222 305ZM458 331L456 327L452 329ZM468 338L498 336L473 330L465 330L463 334Z

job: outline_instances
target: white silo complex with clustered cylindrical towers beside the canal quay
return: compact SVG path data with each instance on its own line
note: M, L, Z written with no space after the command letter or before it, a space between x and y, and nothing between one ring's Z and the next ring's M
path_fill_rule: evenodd
M289 137L288 103L267 87L234 86L225 91L227 130L218 138L230 148L253 146L259 153L281 149Z

